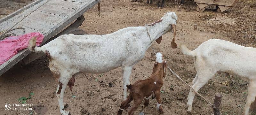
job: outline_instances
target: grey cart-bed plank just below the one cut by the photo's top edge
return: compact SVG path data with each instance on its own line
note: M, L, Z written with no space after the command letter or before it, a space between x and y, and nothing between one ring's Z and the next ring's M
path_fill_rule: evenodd
M36 11L42 11L46 13L68 17L69 15L74 13L76 10L44 4L42 7L38 8Z

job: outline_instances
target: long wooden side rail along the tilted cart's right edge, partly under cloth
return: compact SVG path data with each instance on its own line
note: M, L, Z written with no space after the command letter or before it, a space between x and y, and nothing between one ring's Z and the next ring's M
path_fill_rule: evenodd
M55 26L48 33L45 34L44 40L43 40L42 44L44 42L46 42L47 40L49 40L55 34L59 33L60 30L62 30L66 26L68 26L68 24L70 24L76 18L81 16L85 11L89 10L90 8L92 8L92 6L94 6L98 2L100 2L100 0L90 0L86 5L81 7L79 10L75 11L67 19L64 19L61 23L59 23L57 26ZM28 49L22 50L18 54L16 54L15 56L13 56L11 59L9 59L7 62L5 62L4 64L0 65L0 75L2 75L4 72L9 70L13 65L17 64L21 59L26 57L29 53L31 53L31 51L29 51Z

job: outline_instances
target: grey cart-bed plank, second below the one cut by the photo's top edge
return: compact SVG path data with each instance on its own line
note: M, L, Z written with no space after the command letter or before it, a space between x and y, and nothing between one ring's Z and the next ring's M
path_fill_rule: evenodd
M23 15L24 16L24 15ZM57 25L59 24L62 20L66 19L67 17L64 16L58 16L50 13L45 13L41 11L34 11L31 14L27 16L28 18L40 20L43 22L47 22L50 24Z

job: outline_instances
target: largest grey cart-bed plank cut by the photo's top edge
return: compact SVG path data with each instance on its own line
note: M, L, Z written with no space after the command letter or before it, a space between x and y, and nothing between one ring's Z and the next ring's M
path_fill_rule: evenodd
M65 0L50 0L46 4L52 5L52 6L57 6L57 7L62 7L62 8L78 10L81 7L83 7L86 3L71 2L71 1L65 1ZM70 4L72 4L72 5L70 5Z

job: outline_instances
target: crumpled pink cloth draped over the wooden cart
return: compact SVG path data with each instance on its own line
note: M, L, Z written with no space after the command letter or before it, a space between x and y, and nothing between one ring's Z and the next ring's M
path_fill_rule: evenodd
M10 36L0 41L0 65L8 61L20 50L28 47L28 41L33 37L36 38L36 46L39 46L44 39L44 35L39 32L32 32L19 36Z

